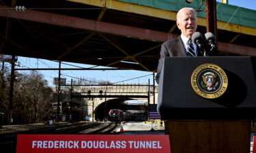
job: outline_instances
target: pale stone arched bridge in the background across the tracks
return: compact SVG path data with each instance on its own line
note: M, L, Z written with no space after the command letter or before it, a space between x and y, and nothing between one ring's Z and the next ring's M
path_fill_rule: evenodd
M76 84L72 87L74 90L71 90L71 85L63 86L66 86L65 94L61 94L62 99L66 97L63 101L63 114L68 105L73 118L79 120L83 120L85 116L90 116L95 120L105 120L109 116L110 109L145 113L149 104L157 103L158 99L158 87L154 88L149 84L110 84L106 86ZM75 86L81 87L75 88Z

